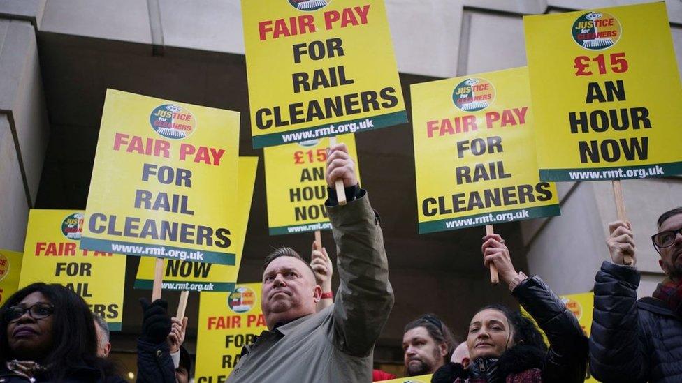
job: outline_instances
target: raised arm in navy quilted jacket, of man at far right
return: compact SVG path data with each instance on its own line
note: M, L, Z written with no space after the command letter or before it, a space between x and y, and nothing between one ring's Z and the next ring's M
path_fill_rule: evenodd
M595 277L595 311L590 333L590 371L602 382L641 382L648 370L644 334L639 330L639 272L629 223L609 224L607 246L612 262ZM624 257L632 257L625 266Z

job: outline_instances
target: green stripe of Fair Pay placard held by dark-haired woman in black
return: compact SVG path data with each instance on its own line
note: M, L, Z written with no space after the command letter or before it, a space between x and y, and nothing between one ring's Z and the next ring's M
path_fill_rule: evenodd
M527 215L521 218L521 212L526 211ZM512 216L507 216L511 214ZM518 214L518 216L517 216ZM495 213L477 214L474 216L462 216L458 218L448 218L444 220L432 220L430 222L419 223L419 234L445 232L447 230L465 229L467 227L495 225L498 223L508 223L517 220L530 220L532 218L542 218L559 216L561 214L559 205L528 207L505 211L495 211ZM498 219L500 218L500 219ZM455 225L455 222L459 225ZM448 225L448 223L451 223Z

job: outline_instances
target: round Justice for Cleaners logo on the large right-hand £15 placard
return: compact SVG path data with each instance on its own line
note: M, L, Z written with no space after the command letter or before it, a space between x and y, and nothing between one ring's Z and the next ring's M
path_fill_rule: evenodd
M605 50L621 38L621 23L605 12L588 12L573 22L573 40L588 50Z

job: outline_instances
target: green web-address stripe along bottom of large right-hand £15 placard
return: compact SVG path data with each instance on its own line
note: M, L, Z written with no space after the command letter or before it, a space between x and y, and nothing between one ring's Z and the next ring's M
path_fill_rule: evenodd
M590 167L586 169L540 169L540 181L608 181L643 179L682 174L682 162L653 165Z

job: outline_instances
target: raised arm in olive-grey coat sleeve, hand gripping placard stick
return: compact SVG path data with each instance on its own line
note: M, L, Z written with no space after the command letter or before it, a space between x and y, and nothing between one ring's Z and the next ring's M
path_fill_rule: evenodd
M355 165L344 144L330 148L326 179L340 279L333 308L337 345L348 354L366 356L393 307L384 237L367 193L358 187ZM346 187L348 203L344 206L338 206L332 190L337 179Z

